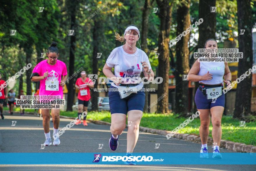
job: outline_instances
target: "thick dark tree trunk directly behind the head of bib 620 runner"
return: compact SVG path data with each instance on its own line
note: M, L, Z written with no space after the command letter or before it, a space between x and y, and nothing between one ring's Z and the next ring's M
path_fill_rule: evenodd
M211 13L211 6L216 6L216 0L199 0L199 18L202 18L204 21L198 26L199 37L197 48L205 48L206 40L216 38L216 13ZM199 82L195 82L195 89L198 86ZM196 111L196 105L194 105L194 112Z

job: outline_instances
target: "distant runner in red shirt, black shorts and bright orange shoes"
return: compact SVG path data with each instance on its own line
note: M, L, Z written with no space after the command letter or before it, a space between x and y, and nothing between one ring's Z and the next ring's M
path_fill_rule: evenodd
M79 89L78 92L78 118L76 121L76 125L81 124L81 119L79 115L82 115L82 112L86 111L88 109L88 102L91 98L90 95L90 88L93 88L93 82L88 77L86 77L86 72L81 71L81 77L77 79L77 82L75 84L75 87ZM83 117L83 125L87 126L86 123L86 116Z

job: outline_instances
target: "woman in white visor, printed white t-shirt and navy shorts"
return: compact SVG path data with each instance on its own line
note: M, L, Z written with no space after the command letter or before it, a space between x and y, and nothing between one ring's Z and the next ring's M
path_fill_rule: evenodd
M143 82L139 78L140 74L143 72L147 80L154 78L146 53L136 47L139 37L139 29L134 25L125 29L124 36L116 33L116 40L125 41L125 44L111 52L103 68L106 77L113 81L109 91L112 133L109 147L113 151L117 149L118 137L125 129L128 114L128 155L131 155L138 140L139 124L145 105L145 93L142 89ZM112 73L113 67L115 75Z

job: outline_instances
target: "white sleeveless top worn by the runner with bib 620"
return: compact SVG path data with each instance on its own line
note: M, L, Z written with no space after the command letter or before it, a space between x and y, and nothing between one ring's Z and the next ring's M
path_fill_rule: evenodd
M202 80L199 83L202 84L222 84L223 76L225 73L225 64L224 62L200 62L200 71L198 75L205 75L207 72L213 74L212 80Z

